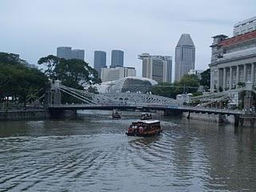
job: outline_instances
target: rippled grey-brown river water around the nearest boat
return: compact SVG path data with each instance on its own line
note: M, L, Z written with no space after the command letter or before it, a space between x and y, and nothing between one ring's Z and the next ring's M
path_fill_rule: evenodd
M250 128L163 117L163 132L127 137L139 114L0 122L0 191L256 191Z

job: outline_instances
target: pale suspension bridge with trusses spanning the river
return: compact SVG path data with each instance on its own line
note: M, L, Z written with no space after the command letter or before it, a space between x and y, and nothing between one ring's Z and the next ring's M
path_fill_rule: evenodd
M201 106L185 106L173 98L166 98L154 94L142 93L106 93L93 94L88 90L76 90L63 86L60 81L55 81L45 93L45 106L53 114L63 110L162 110L166 114L182 114L182 112L202 114L227 114L234 115L236 122L244 114L242 110L229 110L209 107L210 103L222 102L231 99L232 92L238 93L245 88L228 90L220 93L210 93L191 98L191 101L202 102ZM61 95L68 94L77 98L80 103L62 103Z

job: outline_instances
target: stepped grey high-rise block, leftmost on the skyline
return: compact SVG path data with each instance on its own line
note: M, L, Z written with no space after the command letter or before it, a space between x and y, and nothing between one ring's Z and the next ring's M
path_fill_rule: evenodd
M72 50L70 46L59 46L57 48L57 57L65 59L76 58L84 61L85 50Z

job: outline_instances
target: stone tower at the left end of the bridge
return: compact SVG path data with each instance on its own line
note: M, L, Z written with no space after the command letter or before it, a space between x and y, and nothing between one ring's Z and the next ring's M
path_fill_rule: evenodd
M61 81L51 81L50 85L46 87L45 93L45 107L48 108L50 105L58 105L62 102L60 85Z

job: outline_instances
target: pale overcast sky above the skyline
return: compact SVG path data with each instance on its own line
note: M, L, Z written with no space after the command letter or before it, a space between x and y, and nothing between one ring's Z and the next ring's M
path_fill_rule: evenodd
M178 38L188 33L196 47L195 68L210 62L211 37L232 36L233 26L256 15L255 0L0 0L0 51L30 63L56 54L58 46L125 51L125 66L142 76L138 54L173 57Z

